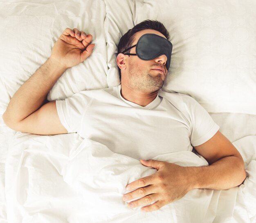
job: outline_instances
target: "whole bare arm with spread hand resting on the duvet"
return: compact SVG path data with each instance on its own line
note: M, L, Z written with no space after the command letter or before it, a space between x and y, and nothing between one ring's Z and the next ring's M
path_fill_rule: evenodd
M150 212L181 199L192 189L225 190L243 183L246 178L243 158L220 131L194 148L209 166L182 167L164 161L141 159L144 166L156 168L157 172L126 185L126 190L133 191L124 194L124 201L141 197L130 202L128 207L136 208L156 201L141 208L141 211Z

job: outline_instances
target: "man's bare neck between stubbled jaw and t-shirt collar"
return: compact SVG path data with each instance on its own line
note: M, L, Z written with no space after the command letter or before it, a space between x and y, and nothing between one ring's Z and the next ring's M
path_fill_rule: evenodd
M147 106L157 97L158 91L155 92L143 92L137 91L135 89L130 88L129 86L122 84L121 85L121 95L124 99L129 102L133 102L140 106Z

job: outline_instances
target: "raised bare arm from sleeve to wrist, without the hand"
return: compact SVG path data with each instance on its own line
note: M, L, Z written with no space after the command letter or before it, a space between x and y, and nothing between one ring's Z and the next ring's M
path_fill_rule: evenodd
M7 126L38 135L67 133L47 93L66 69L48 59L13 95L3 114ZM48 102L45 104L45 102Z

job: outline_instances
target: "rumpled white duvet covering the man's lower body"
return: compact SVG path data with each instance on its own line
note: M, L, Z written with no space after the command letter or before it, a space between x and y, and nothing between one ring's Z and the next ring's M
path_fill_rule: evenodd
M122 200L128 183L156 172L77 134L17 133L6 163L8 222L239 222L255 221L256 136L234 142L247 178L229 190L195 189L154 212L129 209ZM250 154L250 155L246 155ZM252 155L253 154L253 155ZM206 166L193 152L152 157L180 166Z

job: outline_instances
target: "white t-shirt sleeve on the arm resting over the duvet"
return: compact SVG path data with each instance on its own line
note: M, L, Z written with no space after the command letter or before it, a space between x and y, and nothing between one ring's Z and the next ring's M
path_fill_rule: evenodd
M184 106L189 113L191 127L191 145L199 146L216 134L219 126L213 121L209 113L193 97L185 96Z

